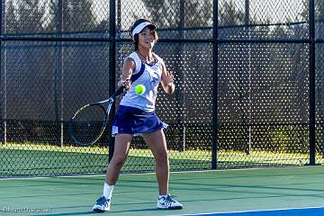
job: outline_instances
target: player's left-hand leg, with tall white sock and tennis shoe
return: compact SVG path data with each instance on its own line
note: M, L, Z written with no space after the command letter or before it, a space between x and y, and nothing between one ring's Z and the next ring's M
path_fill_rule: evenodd
M113 187L118 180L121 167L128 156L132 138L131 134L116 134L112 160L108 165L105 175L103 195L96 201L93 211L103 212L110 210Z

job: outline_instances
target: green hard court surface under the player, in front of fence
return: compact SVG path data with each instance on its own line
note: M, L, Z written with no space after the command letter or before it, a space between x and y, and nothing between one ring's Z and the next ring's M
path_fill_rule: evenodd
M155 174L124 174L107 214L217 215L308 209L312 216L320 215L320 208L311 207L323 205L323 178L323 166L172 173L170 193L184 203L184 209L161 211L156 209ZM3 178L0 188L1 215L91 215L97 214L91 208L102 193L103 175Z

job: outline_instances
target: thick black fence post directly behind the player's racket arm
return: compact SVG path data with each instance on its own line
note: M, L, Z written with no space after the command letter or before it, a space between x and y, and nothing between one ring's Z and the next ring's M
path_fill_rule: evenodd
M110 0L109 9L109 37L111 43L109 45L109 94L112 95L115 91L115 73L116 73L116 0ZM114 106L113 106L114 107ZM112 116L114 115L114 109L110 115L109 122L112 122ZM112 124L109 124L108 134L111 134ZM110 135L109 140L109 161L111 161L114 149L114 138Z

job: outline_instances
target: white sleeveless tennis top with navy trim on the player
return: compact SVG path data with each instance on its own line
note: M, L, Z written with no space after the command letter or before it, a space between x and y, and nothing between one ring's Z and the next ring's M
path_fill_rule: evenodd
M154 65L148 65L141 61L136 52L132 52L130 56L127 57L132 58L136 64L132 76L138 74L140 70L143 70L143 74L130 85L130 89L121 99L121 105L136 107L146 112L155 111L157 86L161 81L163 60L155 53L153 53L153 57L156 58L156 63ZM125 60L127 58L125 58ZM139 95L135 93L135 86L139 84L145 85L146 91L144 94Z

